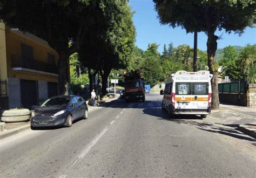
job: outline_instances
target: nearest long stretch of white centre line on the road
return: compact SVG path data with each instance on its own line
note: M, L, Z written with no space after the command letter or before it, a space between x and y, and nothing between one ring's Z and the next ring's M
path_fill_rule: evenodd
M78 156L78 159L72 163L72 165L69 167L71 169L77 162L79 162L81 159L84 158L84 156L91 150L93 146L99 141L99 139L106 133L107 128L105 128L92 142L89 143L89 146ZM69 172L69 169L66 170L65 174L63 174L60 177L66 177L67 173Z

